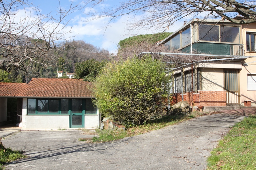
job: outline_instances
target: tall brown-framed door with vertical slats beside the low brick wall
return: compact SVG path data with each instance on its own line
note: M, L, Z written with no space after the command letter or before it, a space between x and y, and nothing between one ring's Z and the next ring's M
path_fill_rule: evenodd
M225 70L224 75L227 105L240 104L238 70Z

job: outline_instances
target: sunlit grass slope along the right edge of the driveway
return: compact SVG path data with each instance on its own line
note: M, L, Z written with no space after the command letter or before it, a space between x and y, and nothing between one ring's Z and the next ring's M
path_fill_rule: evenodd
M208 157L208 170L256 169L256 116L238 122Z

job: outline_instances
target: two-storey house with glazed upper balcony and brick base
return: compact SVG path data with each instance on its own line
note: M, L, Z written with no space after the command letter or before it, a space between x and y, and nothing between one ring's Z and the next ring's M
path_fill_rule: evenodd
M256 23L194 19L159 42L185 53L168 55L207 58L173 70L173 104L187 100L193 106L256 106L255 35Z

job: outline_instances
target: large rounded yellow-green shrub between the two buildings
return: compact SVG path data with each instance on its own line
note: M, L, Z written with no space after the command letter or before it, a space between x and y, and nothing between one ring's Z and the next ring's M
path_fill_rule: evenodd
M108 63L94 82L94 103L104 117L126 127L163 115L169 76L150 56Z

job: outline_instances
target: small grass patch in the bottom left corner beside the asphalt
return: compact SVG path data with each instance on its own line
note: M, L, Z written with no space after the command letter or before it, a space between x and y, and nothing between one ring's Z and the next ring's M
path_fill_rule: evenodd
M3 164L12 162L17 159L26 158L22 151L13 151L10 148L0 149L0 170L4 169Z

